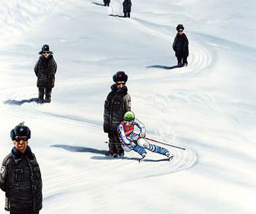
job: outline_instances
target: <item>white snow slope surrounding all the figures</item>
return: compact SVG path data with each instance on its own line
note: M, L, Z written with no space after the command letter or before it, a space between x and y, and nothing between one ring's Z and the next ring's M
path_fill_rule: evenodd
M25 121L41 214L255 214L256 2L136 0L130 19L121 0L102 4L0 1L0 161ZM171 48L178 23L190 41L183 68ZM28 100L43 44L58 71L52 103L38 105ZM165 146L171 162L105 157L103 104L118 70L147 137L186 148Z

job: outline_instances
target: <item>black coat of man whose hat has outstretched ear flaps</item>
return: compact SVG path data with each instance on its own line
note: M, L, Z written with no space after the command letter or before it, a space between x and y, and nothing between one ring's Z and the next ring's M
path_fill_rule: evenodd
M37 87L53 88L56 71L57 64L53 59L53 55L49 55L48 59L41 55L34 67L34 72L37 76Z

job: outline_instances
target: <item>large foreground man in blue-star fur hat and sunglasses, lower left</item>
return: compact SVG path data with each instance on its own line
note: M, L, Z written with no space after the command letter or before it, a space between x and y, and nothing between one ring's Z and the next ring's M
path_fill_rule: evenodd
M28 146L31 131L23 122L11 130L14 147L2 163L0 188L10 214L38 214L42 209L42 179L35 155Z

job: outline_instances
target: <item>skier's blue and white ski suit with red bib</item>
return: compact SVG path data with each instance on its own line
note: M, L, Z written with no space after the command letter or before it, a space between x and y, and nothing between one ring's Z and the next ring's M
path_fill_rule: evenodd
M150 144L146 139L140 138L140 136L145 136L146 129L143 123L136 118L130 127L125 126L124 122L121 122L117 127L117 132L121 140L121 146L126 152L134 150L144 156L146 155L145 149L148 149L151 152L156 152L166 156L169 154L167 149Z

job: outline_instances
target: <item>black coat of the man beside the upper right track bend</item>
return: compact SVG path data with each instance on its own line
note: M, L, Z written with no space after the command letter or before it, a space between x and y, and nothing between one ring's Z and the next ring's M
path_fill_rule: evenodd
M188 39L185 33L179 35L177 33L172 48L175 51L176 57L187 57L188 56Z

